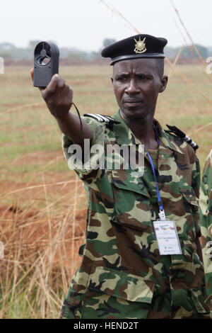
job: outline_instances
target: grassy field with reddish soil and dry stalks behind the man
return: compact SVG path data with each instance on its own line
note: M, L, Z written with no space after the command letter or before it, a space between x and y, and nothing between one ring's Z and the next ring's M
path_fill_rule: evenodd
M198 143L203 168L212 142L212 75L197 64L165 72L170 79L155 118ZM60 74L81 115L117 111L111 67L61 67ZM57 318L80 261L86 195L27 67L0 75L0 126L0 318Z

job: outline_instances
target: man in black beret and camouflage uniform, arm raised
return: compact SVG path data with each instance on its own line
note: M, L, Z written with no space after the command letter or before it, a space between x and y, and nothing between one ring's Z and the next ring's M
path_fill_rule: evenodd
M72 91L58 76L42 91L64 133L65 157L83 180L89 201L86 244L79 251L83 260L62 308L66 318L204 318L208 313L197 254L199 162L190 145L154 119L158 94L167 85L166 43L135 35L102 51L113 65L119 111L112 118L85 115L80 123L69 112ZM87 150L85 139L91 148L82 166L73 163L71 147ZM144 169L137 164L141 144ZM95 163L101 159L95 145L102 147L105 167ZM135 153L128 169L126 154L118 149L122 145Z

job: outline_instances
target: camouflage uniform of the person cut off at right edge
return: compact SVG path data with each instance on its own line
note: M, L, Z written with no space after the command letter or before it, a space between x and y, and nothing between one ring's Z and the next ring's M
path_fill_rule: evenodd
M207 303L212 313L212 150L206 159L200 190L201 240L206 278ZM211 242L211 243L210 243Z

